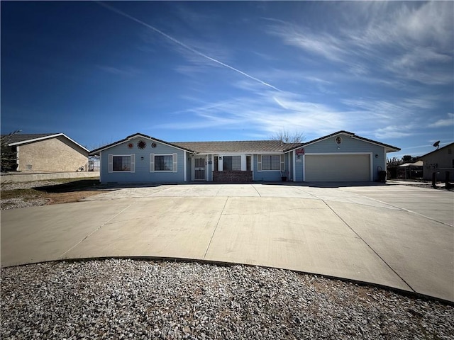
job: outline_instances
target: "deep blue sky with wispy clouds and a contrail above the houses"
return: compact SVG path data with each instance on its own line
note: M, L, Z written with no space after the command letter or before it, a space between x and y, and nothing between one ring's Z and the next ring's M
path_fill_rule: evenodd
M1 1L1 132L454 140L454 2Z

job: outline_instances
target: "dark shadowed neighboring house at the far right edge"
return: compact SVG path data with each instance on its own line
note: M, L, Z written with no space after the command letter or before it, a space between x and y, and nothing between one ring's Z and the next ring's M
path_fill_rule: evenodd
M450 181L454 181L454 143L436 149L419 157L424 162L423 177L431 181L433 172L437 173L437 181L445 181L445 173L449 171Z

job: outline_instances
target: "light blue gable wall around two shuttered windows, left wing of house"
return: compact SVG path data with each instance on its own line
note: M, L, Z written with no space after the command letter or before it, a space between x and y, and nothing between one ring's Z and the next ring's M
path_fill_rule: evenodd
M137 147L139 140L147 143L144 149ZM151 147L152 142L156 143L156 147ZM128 147L129 143L133 144L132 148ZM177 154L177 172L150 172L150 154L174 153ZM135 172L109 173L109 154L135 154ZM101 182L182 182L184 181L184 157L186 157L184 150L143 137L134 138L101 152Z

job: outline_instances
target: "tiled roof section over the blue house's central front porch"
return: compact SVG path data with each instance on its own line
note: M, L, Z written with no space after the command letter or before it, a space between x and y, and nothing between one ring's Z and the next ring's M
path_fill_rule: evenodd
M228 152L283 152L301 143L283 143L280 140L239 140L228 142L174 142L201 154Z

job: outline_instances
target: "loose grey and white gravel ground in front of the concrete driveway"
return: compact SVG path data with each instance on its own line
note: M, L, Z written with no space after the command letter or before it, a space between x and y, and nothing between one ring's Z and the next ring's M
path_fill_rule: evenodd
M1 269L1 339L453 339L454 307L272 268L132 261Z

